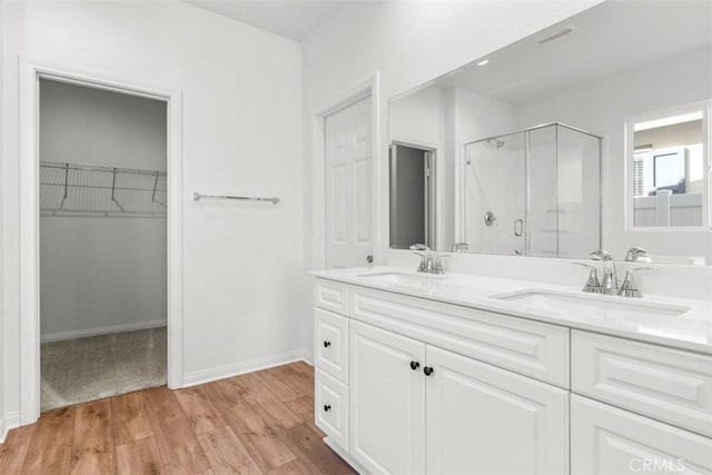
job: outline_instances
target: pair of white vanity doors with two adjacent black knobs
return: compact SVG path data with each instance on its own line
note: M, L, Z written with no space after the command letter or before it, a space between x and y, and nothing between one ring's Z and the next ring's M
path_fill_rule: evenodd
M568 392L358 321L349 345L350 454L367 471L567 473Z

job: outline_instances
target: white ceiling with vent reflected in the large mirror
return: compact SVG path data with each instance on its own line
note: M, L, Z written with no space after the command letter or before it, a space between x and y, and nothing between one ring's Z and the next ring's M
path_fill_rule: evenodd
M474 61L433 85L515 103L711 44L710 1L606 1L495 51L484 66Z

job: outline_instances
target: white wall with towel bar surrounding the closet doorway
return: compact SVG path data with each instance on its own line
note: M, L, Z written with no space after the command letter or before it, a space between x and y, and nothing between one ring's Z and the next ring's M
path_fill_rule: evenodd
M186 382L298 357L312 328L303 249L300 47L181 2L4 3L2 347L19 400L18 55L180 91ZM192 191L278 196L199 202Z

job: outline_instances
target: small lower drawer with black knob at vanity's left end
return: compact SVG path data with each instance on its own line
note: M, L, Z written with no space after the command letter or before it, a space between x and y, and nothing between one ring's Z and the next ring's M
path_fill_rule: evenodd
M348 388L320 370L315 370L314 419L333 442L348 451Z

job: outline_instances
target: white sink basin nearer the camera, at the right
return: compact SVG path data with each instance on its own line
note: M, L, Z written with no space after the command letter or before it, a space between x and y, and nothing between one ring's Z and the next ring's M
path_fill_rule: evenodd
M527 289L514 294L494 296L500 300L521 304L532 311L547 311L578 317L678 317L690 308L650 301L625 299L625 297L592 294L564 294L551 290Z

